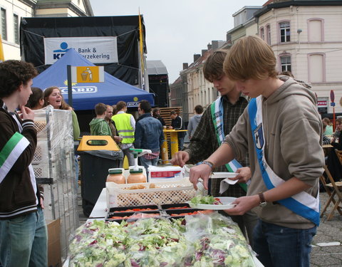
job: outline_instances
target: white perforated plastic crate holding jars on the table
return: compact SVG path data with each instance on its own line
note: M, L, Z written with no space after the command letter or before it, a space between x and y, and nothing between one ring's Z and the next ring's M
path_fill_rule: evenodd
M151 183L115 184L107 182L108 209L115 206L184 203L195 197L195 189L188 178L153 184L156 188L150 188ZM139 185L144 186L145 189L130 189L130 187Z

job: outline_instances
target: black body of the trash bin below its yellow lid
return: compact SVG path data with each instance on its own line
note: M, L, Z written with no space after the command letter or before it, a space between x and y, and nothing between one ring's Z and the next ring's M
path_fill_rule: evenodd
M122 151L78 151L81 161L81 196L85 216L90 216L102 189L105 187L108 169L118 168L123 159Z

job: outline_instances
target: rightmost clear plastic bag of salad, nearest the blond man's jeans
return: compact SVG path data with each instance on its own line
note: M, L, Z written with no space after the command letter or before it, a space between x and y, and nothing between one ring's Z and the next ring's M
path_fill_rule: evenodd
M195 248L191 266L255 267L252 248L239 226L217 212L186 216L185 238Z

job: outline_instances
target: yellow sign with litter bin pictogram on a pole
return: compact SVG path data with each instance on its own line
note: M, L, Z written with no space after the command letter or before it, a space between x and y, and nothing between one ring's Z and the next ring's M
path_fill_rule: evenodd
M103 83L105 71L103 66L71 67L71 77L73 83Z

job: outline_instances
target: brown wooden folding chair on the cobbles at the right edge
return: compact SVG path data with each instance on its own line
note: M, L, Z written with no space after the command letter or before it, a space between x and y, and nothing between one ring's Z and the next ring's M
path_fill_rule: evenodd
M328 167L326 166L324 166L324 172L326 172L328 181L330 181L330 183L326 183L326 179L323 177L323 175L319 177L319 179L321 180L323 187L326 189L326 192L329 195L329 199L326 202L323 211L321 212L321 217L323 217L323 214L326 212L326 209L328 209L328 206L333 203L333 209L326 218L326 220L329 221L333 216L333 212L336 210L342 216L342 182L335 182L333 180L333 177L331 177L331 173L329 172ZM337 196L337 199L335 199L335 196Z

